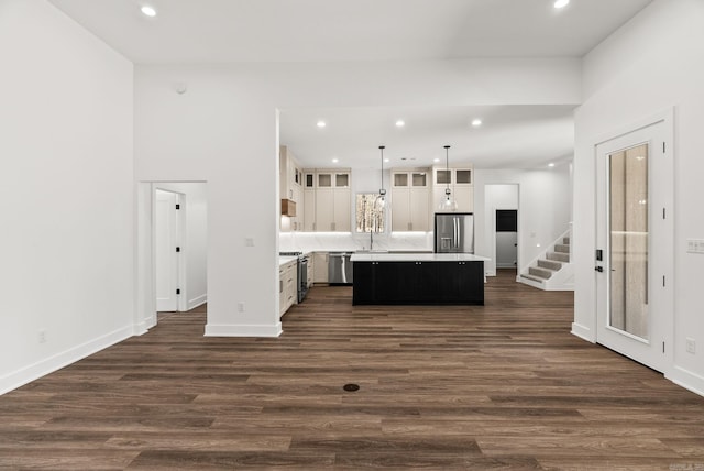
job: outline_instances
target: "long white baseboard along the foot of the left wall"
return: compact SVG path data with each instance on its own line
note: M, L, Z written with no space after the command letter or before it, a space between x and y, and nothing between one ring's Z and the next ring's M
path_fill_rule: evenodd
M34 364L22 368L21 370L9 373L0 377L0 395L9 393L12 390L16 390L18 387L31 383L34 380L38 380L40 377L53 373L56 370L61 370L62 368L75 363L78 360L129 339L134 335L134 326L123 327L80 346L73 347L66 351L56 353L44 360L40 360Z

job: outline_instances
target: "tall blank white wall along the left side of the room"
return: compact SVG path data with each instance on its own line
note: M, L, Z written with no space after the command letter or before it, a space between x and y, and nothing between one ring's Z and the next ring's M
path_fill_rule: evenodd
M133 68L37 0L0 57L3 393L133 333Z

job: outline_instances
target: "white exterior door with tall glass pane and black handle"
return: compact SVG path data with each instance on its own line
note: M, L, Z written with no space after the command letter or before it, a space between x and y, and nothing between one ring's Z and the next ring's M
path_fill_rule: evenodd
M596 147L597 342L661 372L673 306L667 146L660 121Z

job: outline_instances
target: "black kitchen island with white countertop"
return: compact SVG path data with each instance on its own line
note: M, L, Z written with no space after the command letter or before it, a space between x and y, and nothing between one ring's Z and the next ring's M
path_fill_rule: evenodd
M354 305L483 305L485 256L355 253Z

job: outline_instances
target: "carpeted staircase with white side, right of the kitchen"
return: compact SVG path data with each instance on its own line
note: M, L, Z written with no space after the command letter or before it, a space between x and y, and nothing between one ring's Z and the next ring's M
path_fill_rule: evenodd
M573 291L574 267L570 262L570 231L534 260L528 271L518 276L520 283L544 291Z

